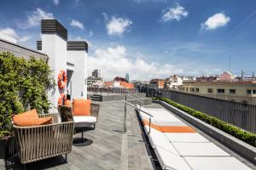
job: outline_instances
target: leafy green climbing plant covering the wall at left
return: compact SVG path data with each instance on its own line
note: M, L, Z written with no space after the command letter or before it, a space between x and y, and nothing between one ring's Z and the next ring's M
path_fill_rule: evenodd
M29 109L49 110L47 89L54 87L44 59L0 53L0 138L11 133L11 116Z

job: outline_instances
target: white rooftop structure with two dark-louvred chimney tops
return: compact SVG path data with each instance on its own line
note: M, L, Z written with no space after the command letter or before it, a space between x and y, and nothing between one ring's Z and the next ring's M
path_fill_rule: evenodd
M70 99L87 98L85 78L87 75L88 44L84 41L67 41L67 29L57 20L41 20L42 41L38 41L38 51L49 56L49 66L53 70L57 82L61 71L67 74L66 88L49 92L49 100L53 107L50 112L56 112L61 94L67 94Z

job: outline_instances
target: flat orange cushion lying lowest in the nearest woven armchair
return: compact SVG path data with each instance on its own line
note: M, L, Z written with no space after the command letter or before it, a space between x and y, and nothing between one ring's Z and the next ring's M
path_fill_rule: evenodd
M52 122L52 117L42 118L13 118L15 125L19 127L31 127L38 125L46 125Z

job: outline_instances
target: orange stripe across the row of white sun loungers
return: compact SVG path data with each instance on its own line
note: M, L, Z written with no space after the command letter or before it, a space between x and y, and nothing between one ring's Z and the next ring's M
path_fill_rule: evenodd
M143 124L149 126L147 120L143 120ZM195 133L195 130L189 126L158 126L151 122L150 127L162 133Z

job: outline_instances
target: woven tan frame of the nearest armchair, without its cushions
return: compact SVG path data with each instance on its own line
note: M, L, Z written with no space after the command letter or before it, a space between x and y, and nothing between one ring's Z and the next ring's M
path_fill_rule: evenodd
M52 116L53 124L33 127L13 125L20 162L24 165L72 150L74 122L57 122L56 114L42 114L39 117Z

